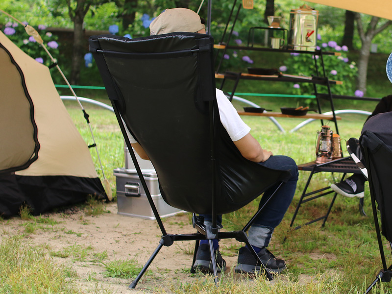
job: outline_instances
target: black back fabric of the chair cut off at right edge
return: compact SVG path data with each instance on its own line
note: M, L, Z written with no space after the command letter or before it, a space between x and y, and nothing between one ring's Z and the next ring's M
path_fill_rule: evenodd
M362 133L359 142L368 170L370 195L380 211L381 233L392 242L392 150L369 130Z

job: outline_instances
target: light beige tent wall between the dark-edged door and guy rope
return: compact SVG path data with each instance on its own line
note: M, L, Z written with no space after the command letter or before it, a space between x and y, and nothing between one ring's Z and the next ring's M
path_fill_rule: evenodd
M39 158L17 173L98 177L90 150L57 93L49 68L27 55L2 33L0 43L24 73L26 89L34 104L34 119L41 145ZM83 115L82 112L80 115Z

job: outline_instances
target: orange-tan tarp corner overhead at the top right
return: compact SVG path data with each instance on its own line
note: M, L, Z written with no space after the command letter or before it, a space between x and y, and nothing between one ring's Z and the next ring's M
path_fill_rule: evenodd
M383 19L392 20L392 1L391 0L311 0L309 2L337 7L344 10L360 12Z

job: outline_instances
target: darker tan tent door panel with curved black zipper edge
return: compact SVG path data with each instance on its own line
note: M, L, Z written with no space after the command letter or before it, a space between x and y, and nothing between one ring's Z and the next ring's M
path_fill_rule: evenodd
M25 169L38 150L34 108L23 73L0 44L0 171Z

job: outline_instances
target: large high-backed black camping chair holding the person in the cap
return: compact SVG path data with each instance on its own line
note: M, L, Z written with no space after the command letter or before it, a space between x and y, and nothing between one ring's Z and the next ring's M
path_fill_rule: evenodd
M213 38L196 33L132 40L102 35L91 37L89 44L128 149L132 147L126 128L149 156L163 199L192 212L197 230L193 234L166 232L131 152L162 239L129 288L136 287L162 246L174 241L196 241L196 254L198 241L208 239L213 259L213 239L235 238L250 246L245 232L261 210L241 231L218 232L216 216L238 210L269 188L277 190L290 174L246 160L222 126ZM212 225L205 226L196 214L211 214ZM254 251L253 255L257 258ZM212 265L218 283L215 260Z

